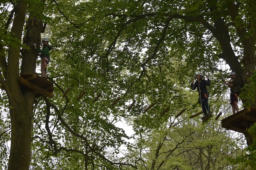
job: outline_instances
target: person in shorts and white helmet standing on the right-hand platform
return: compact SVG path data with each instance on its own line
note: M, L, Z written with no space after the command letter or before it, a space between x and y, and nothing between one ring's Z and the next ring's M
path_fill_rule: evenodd
M230 76L230 80L228 80L227 83L224 80L223 83L228 87L230 87L230 104L232 106L232 112L233 114L235 114L235 111L236 112L239 111L237 102L238 102L240 87L239 87L239 81L237 80L237 75L235 74L235 72L229 73L229 76Z

